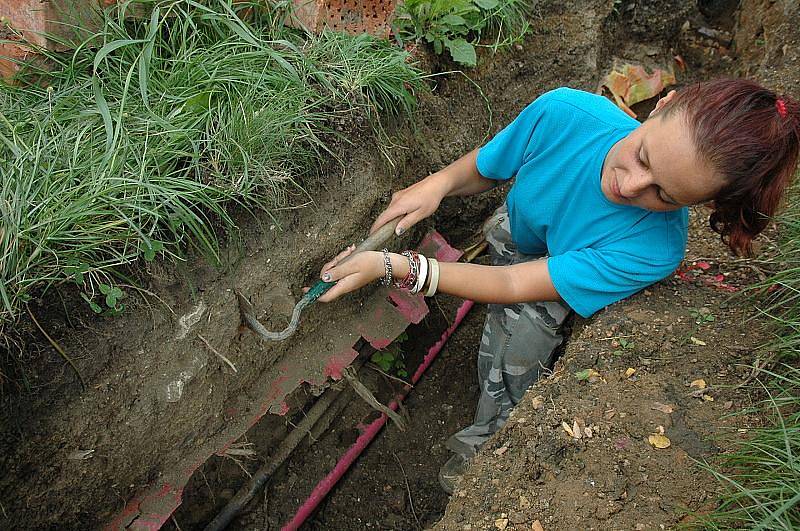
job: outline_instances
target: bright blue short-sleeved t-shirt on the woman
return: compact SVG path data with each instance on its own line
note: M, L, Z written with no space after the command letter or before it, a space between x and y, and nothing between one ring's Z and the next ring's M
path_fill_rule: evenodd
M511 236L525 254L549 254L558 294L584 317L667 277L683 259L688 209L617 205L600 189L609 149L640 124L602 96L543 94L478 151L490 179L516 176Z

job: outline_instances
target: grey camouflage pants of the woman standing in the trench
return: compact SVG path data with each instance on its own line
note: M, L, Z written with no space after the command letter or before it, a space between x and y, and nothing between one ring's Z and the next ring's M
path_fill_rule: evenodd
M512 265L542 256L517 251L505 204L484 226L493 265ZM490 304L478 350L481 395L473 424L448 439L447 447L466 458L503 427L525 391L553 364L561 324L570 312L563 302Z

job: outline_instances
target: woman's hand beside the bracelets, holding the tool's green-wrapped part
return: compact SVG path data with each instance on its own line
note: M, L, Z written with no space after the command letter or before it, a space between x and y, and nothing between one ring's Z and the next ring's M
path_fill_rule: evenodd
M351 245L322 266L320 278L325 282L336 282L336 285L319 298L321 302L336 300L383 277L383 253L364 251L353 255L354 250L355 246Z

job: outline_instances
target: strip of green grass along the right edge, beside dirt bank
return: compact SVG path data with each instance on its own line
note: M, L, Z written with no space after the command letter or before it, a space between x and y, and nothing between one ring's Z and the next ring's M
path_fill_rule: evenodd
M725 487L716 510L698 523L707 529L800 529L800 196L779 218L778 272L759 288L772 294L764 313L773 319L771 347L782 362L760 369L766 398L754 409L764 421L733 453L704 465Z

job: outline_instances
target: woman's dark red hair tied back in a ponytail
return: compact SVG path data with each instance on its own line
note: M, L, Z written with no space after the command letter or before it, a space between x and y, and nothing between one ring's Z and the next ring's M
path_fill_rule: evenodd
M750 254L792 180L800 150L795 100L745 79L690 85L664 114L683 111L698 154L725 185L709 223L737 254Z

